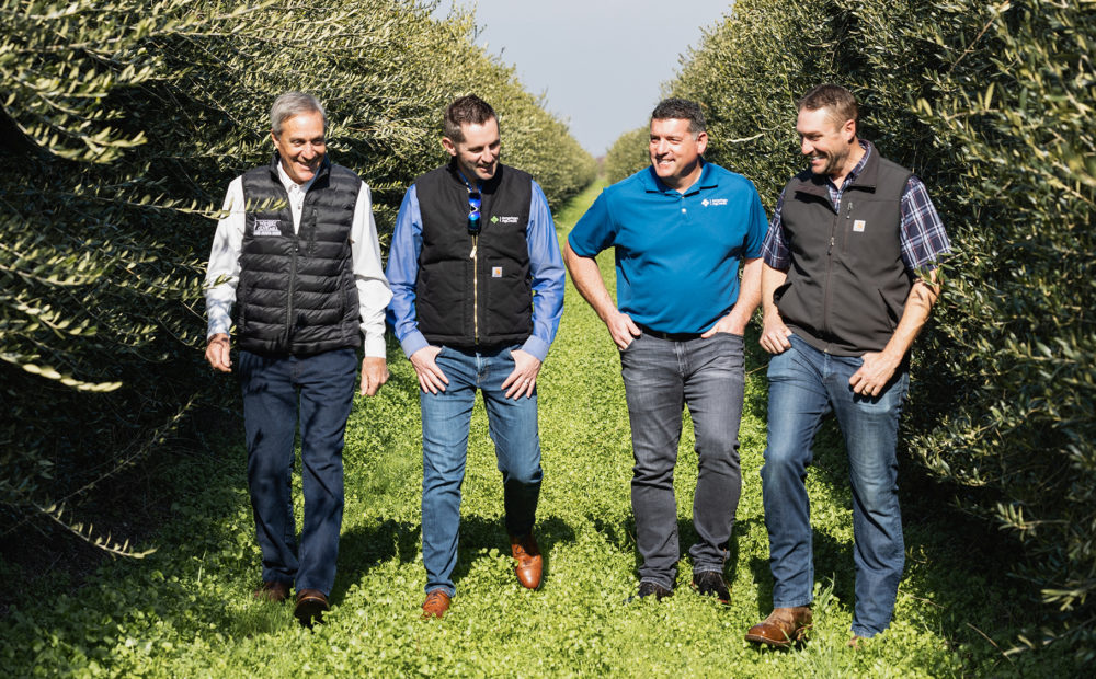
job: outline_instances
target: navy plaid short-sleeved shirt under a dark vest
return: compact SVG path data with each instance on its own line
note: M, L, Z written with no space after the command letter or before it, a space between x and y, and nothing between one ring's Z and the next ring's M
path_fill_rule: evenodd
M864 158L856 163L853 171L848 173L845 181L838 188L833 181L826 177L826 187L830 189L830 200L835 210L841 210L841 197L845 188L853 183L853 180L864 170L864 164L868 161L872 148L870 145L860 141L860 148L865 150ZM762 245L762 256L765 264L775 269L786 272L791 266L788 241L784 234L784 227L780 221L780 210L784 208L784 192L776 202L776 211L768 223L768 233L765 235L765 243ZM936 208L928 197L925 184L916 176L911 175L902 192L902 263L910 272L920 268L934 269L936 261L941 255L951 251L951 242L944 231Z

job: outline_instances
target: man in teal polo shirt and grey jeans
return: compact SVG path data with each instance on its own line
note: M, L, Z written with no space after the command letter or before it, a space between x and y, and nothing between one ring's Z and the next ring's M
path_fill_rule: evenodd
M707 143L696 103L661 102L651 114L651 166L602 192L568 237L563 258L620 349L643 557L639 596L667 597L677 579L673 476L684 404L699 467L693 586L726 603L723 563L742 486L742 334L761 301L767 220L749 180L704 161ZM594 261L606 248L616 254L617 304Z

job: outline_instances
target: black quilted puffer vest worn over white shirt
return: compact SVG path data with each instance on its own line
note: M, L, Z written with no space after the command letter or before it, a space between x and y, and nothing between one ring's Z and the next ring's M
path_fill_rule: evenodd
M350 233L362 180L324 160L293 231L279 158L243 175L236 326L241 349L307 356L362 345Z

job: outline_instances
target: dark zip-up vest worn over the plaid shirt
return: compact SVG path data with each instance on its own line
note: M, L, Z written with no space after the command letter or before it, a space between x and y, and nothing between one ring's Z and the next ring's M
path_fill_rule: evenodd
M881 350L894 334L913 285L901 243L910 175L871 148L840 214L825 177L810 170L785 187L780 220L791 267L774 299L788 327L814 348L859 356Z

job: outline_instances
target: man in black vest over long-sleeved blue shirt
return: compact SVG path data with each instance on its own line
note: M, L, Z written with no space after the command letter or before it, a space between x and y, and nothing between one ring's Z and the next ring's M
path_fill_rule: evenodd
M455 594L460 484L476 391L502 472L506 532L522 586L540 585L533 536L540 495L537 375L563 311L551 211L528 174L499 162L499 118L475 95L445 112L448 164L408 189L388 257L388 319L419 378L423 618Z

